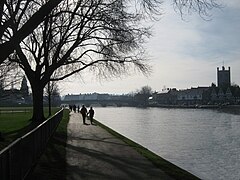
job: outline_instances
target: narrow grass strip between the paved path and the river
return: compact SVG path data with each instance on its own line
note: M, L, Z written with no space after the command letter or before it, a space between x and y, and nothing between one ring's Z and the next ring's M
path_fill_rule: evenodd
M190 172L158 156L157 154L153 153L149 149L141 146L140 144L132 141L131 139L123 136L122 134L119 134L118 132L114 131L108 126L100 123L98 120L94 119L94 122L101 128L105 129L107 132L112 134L113 136L125 142L128 146L135 149L138 153L140 153L142 156L144 156L149 161L151 161L155 167L161 169L164 173L166 173L170 177L174 179L185 179L185 180L200 179L197 176L191 174Z

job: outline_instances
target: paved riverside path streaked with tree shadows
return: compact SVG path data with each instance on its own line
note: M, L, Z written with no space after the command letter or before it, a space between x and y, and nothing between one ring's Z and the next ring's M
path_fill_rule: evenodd
M67 163L67 180L171 179L101 127L83 125L81 114L73 112L68 124Z

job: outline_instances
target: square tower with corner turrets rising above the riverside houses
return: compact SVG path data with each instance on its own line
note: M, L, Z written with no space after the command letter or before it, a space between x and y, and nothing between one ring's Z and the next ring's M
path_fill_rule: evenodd
M228 67L228 70L224 66L222 66L222 70L217 67L217 86L231 86L230 67Z

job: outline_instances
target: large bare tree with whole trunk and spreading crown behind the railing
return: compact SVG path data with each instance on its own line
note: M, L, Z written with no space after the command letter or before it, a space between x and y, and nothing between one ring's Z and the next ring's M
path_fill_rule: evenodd
M49 81L85 69L101 77L120 76L132 67L148 73L141 46L149 29L139 25L143 14L128 12L123 3L65 0L19 44L13 61L31 84L34 120L44 119L43 88Z

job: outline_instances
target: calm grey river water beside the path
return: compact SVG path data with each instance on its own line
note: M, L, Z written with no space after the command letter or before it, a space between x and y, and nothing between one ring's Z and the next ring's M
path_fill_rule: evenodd
M201 179L240 179L240 116L207 109L96 107L95 118Z

